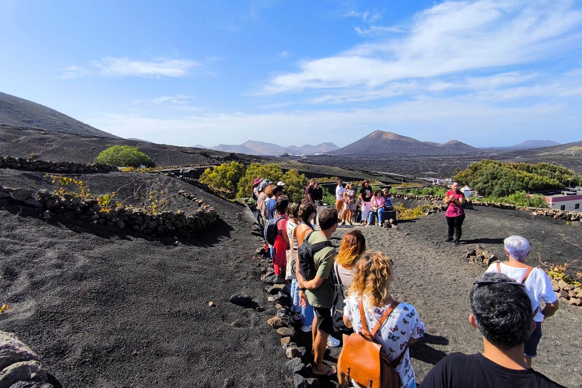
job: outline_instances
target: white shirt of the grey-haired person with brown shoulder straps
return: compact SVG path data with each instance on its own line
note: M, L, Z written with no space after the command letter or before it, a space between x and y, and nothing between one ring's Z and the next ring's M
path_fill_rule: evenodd
M511 277L517 283L521 283L523 276L526 275L527 268L516 268L509 266L505 263L501 264L501 273ZM485 272L497 272L497 264L494 263L487 268ZM546 303L553 303L558 300L556 294L553 292L552 283L549 280L548 275L544 270L540 268L534 268L530 272L530 276L527 277L526 291L531 300L532 311L540 307L540 302L543 299ZM544 314L542 314L542 309L538 308L538 312L534 316L535 322L544 321Z

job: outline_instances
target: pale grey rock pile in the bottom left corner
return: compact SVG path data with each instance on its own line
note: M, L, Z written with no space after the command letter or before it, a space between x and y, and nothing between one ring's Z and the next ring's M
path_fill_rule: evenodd
M14 334L0 332L0 388L52 388L40 357Z

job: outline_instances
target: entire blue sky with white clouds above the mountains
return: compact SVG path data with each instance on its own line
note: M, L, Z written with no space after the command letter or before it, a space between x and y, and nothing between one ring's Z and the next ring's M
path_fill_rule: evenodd
M0 1L0 91L121 137L582 140L582 1Z

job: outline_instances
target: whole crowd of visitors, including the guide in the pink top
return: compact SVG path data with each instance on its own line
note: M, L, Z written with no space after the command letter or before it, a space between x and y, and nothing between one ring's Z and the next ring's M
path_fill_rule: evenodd
M271 257L275 273L284 276L288 284L293 318L300 321L301 330L311 332L313 376L337 375L342 388L361 386L346 376L341 353L338 368L324 363L324 353L327 347L346 346L350 335L374 328L372 335L392 363L400 386L416 387L409 346L423 337L425 324L413 305L391 295L395 263L383 252L368 249L359 229L345 234L338 252L331 244L340 223L345 225L347 220L351 225L350 213L357 198L363 225L371 225L372 213L378 223L384 222L383 213L393 209L388 190L372 192L369 181L364 180L356 193L352 184L343 188L338 180L335 207L321 207L315 180L310 181L303 201L291 203L285 195L285 183L257 180L255 185L257 202L261 202L261 195L265 198L258 203L257 212L265 220L278 218ZM464 195L458 183L453 183L445 195L445 241L460 243L463 203ZM301 275L303 258L297 254L304 241L313 248L311 279ZM509 261L491 265L469 293L469 322L481 333L484 351L447 355L431 369L421 387L561 387L531 368L542 321L556 312L558 298L544 270L525 263L530 252L528 241L510 236L503 243Z

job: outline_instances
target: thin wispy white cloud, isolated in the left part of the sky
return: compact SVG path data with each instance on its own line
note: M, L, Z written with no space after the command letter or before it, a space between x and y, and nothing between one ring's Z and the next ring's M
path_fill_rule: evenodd
M199 62L188 59L158 58L150 61L106 57L93 60L87 67L70 66L63 78L100 74L113 77L185 77L194 69L204 69Z

